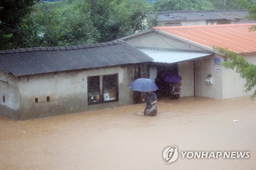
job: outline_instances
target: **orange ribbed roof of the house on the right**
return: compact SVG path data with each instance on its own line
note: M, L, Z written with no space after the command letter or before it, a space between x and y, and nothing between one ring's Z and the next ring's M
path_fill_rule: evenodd
M154 29L210 48L217 45L237 53L253 53L256 52L256 31L248 31L252 25L256 23L154 27Z

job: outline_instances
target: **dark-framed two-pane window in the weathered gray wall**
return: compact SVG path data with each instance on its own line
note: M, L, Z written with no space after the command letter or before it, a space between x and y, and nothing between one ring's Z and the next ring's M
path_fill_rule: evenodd
M118 74L88 77L88 103L118 101Z

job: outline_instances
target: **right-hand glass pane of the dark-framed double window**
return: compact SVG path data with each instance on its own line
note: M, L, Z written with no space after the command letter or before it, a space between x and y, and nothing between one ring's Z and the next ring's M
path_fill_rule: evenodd
M103 101L118 100L118 75L103 76Z

